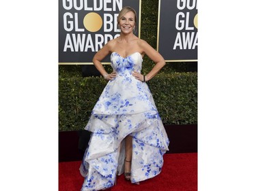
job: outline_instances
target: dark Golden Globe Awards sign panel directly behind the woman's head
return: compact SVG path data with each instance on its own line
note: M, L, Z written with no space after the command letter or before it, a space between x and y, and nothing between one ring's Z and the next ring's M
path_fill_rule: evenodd
M92 64L94 54L119 36L117 16L125 6L137 12L140 37L141 0L59 0L59 64ZM109 56L102 60L109 62Z

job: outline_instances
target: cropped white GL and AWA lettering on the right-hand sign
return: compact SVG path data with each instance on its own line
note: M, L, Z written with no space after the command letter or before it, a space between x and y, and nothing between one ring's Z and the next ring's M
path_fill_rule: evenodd
M192 15L191 10L197 10L197 0L177 0L175 29L177 32L173 50L191 50L197 46L197 14ZM191 18L192 17L192 18ZM180 32L182 31L182 32Z

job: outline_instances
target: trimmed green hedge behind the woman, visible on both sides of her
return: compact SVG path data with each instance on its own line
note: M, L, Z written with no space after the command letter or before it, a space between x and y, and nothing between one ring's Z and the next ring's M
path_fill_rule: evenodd
M197 124L197 73L160 73L147 84L164 124ZM104 86L103 77L59 76L59 131L83 130Z

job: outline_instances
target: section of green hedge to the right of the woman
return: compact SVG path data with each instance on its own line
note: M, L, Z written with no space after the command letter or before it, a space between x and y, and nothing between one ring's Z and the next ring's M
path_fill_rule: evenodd
M197 124L197 73L156 75L148 85L164 124Z

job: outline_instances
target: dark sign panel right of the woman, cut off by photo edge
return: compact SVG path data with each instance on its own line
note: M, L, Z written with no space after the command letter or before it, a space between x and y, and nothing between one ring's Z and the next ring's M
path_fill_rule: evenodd
M157 50L168 62L197 61L197 0L159 0Z

